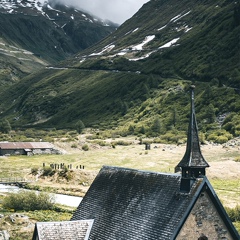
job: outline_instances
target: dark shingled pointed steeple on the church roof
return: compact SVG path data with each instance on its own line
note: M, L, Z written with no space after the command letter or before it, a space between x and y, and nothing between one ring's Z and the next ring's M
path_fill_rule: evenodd
M209 167L204 159L198 137L198 128L194 107L194 88L191 86L191 116L188 127L187 148L182 160L176 168L182 169L180 190L188 192L196 178L205 176L205 168Z

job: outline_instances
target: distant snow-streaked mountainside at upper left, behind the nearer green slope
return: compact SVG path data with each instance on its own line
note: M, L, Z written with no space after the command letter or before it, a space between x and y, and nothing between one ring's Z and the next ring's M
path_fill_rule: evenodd
M45 1L0 2L0 84L12 84L83 50L117 25Z

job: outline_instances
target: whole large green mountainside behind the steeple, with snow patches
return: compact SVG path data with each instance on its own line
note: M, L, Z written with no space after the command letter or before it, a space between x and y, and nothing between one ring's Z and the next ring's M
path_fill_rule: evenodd
M2 116L16 127L74 128L82 120L178 141L194 83L204 137L238 136L239 12L239 1L149 1L98 44L8 89Z

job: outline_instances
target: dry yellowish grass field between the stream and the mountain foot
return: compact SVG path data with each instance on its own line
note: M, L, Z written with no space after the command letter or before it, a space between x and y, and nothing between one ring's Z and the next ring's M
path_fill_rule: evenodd
M34 185L38 184L50 189L55 187L58 192L83 195L103 165L173 173L174 167L185 152L185 145L152 144L151 150L146 151L145 145L139 145L134 139L128 138L125 141L131 141L133 144L117 145L116 148L112 148L87 142L90 149L83 151L81 146L86 144L86 141L81 139L77 148L71 148L71 143L56 143L66 152L63 155L2 157L0 177L30 178L31 168L41 168L43 163L46 165L51 163L72 164L75 174L73 180L66 182L45 178L40 179ZM210 164L210 168L207 169L210 182L224 205L234 207L240 202L240 162L234 161L240 155L239 148L237 146L223 148L221 145L209 144L202 146L201 149ZM80 165L85 169L80 170ZM77 166L78 169L76 169Z

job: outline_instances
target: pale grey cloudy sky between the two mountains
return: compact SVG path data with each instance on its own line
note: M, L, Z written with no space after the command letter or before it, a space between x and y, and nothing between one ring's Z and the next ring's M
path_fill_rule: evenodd
M44 1L44 0L42 0ZM149 0L55 0L87 10L97 17L123 23Z

